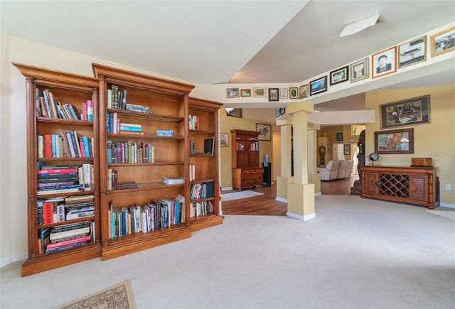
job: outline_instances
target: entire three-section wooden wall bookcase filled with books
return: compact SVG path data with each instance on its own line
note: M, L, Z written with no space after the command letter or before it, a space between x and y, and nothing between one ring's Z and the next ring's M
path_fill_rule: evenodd
M223 222L222 104L189 97L193 85L96 63L95 77L13 65L26 77L23 276L176 242Z

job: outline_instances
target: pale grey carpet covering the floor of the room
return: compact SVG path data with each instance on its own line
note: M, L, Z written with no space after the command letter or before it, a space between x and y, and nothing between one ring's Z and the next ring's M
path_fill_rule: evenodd
M0 308L53 308L125 280L141 309L455 308L454 220L355 195L316 196L315 209L225 215L179 242L23 278L16 262L0 269Z

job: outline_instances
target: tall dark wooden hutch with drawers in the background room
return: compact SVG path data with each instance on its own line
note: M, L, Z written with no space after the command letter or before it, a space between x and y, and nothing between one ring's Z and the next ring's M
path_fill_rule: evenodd
M258 131L231 130L232 188L262 186L264 168L259 167Z

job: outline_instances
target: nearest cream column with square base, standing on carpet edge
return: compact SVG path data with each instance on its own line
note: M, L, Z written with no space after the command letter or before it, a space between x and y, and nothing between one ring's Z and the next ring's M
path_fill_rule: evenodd
M308 182L308 114L313 104L297 102L287 107L294 126L294 183L288 185L287 215L301 220L316 217L314 212L314 184Z

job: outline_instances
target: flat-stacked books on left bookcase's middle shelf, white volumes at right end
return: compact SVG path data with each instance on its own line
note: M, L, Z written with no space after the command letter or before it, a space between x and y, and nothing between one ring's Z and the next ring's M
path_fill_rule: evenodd
M74 193L95 188L93 164L45 166L38 164L37 195Z

